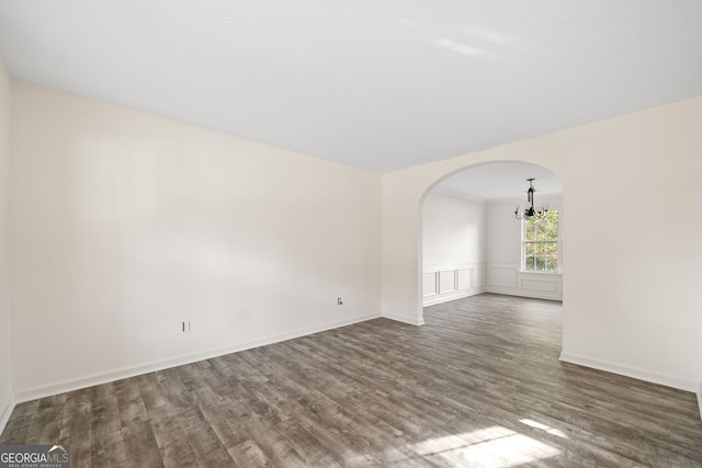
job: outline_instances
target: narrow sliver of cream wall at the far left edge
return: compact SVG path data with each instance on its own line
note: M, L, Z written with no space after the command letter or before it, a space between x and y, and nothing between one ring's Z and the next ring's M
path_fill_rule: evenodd
M11 317L9 269L10 91L11 80L0 61L0 432L12 408Z

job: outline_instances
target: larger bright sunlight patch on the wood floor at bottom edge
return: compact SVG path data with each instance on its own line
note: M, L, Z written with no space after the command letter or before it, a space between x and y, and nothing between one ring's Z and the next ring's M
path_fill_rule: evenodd
M498 425L429 438L417 444L415 450L456 466L486 468L518 466L561 454L551 445Z

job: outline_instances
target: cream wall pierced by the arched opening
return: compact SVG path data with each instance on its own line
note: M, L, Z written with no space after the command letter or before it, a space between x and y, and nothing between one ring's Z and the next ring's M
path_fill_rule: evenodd
M702 381L702 98L383 175L383 313L420 323L420 203L471 164L563 185L562 358L697 391Z

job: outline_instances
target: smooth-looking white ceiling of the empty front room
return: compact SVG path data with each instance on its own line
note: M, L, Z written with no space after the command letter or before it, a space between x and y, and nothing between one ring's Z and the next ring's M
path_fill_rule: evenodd
M699 0L2 0L12 77L385 172L702 94Z

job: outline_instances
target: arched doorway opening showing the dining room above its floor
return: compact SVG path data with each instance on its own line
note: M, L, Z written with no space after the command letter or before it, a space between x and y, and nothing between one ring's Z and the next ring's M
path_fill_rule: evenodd
M526 203L528 179L557 229L526 230L524 239L513 212ZM420 207L420 321L424 306L480 293L562 300L562 193L553 172L523 161L472 164L431 184Z

